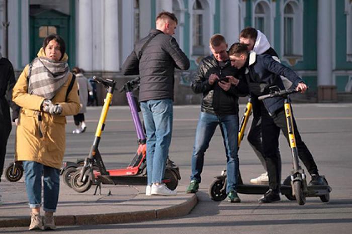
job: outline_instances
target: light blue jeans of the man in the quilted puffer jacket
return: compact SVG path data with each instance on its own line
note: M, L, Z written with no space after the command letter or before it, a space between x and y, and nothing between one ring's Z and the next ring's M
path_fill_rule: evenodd
M171 142L172 100L142 101L140 105L147 134L148 185L161 183Z

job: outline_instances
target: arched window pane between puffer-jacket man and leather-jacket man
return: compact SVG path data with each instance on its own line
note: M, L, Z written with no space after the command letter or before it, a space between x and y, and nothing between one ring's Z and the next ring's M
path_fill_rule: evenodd
M203 15L204 8L200 0L196 0L193 4L193 54L204 54L203 43Z

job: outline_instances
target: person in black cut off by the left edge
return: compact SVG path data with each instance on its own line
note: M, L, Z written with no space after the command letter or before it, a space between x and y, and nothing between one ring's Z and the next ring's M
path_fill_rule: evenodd
M0 53L0 182L4 170L6 145L12 128L10 104L12 109L14 109L14 104L12 102L12 88L14 87L15 82L15 73L11 62L7 58L3 58ZM2 204L1 193L0 204Z

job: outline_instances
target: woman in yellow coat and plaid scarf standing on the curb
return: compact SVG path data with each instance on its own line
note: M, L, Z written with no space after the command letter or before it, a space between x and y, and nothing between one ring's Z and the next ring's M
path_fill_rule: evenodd
M21 106L16 132L17 160L23 161L26 191L31 208L29 229L55 229L53 212L59 195L59 169L65 152L66 115L80 109L77 83L68 92L72 74L65 42L55 34L20 75L13 101ZM44 225L40 217L43 176Z

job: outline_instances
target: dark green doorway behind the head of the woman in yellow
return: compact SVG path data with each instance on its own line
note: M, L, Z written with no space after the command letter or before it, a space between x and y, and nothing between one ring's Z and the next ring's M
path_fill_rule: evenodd
M44 10L40 13L31 15L31 61L37 56L38 51L43 45L46 36L55 33L65 41L66 53L70 48L69 33L69 16L51 10ZM67 53L68 54L68 53ZM68 56L68 64L71 65L70 56Z

